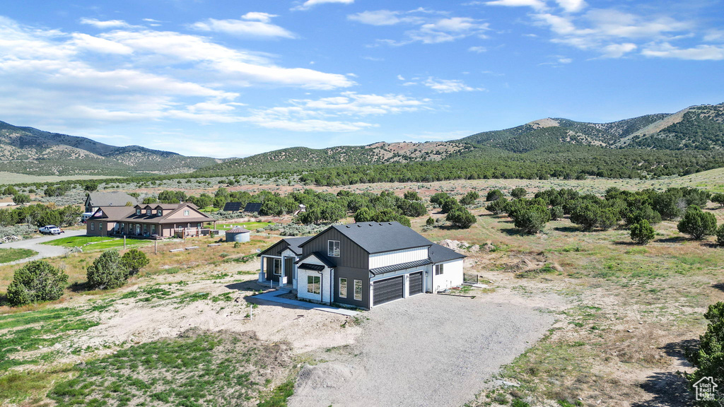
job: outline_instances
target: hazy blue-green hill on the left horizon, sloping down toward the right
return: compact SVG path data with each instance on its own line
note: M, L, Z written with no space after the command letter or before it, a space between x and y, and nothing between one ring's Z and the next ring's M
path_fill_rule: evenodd
M0 122L0 171L30 175L178 174L221 161L141 146L109 146L90 138Z

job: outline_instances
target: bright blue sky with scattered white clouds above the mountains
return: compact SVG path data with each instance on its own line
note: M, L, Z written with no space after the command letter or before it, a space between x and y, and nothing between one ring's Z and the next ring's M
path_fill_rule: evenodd
M200 156L724 101L724 0L7 1L0 120Z

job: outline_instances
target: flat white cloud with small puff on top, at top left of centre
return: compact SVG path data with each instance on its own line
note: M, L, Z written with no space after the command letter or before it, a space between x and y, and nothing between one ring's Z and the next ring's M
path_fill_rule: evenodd
M195 22L190 28L199 31L214 31L216 33L225 33L229 35L237 35L240 37L259 37L259 38L295 38L290 31L285 30L279 25L269 23L274 14L249 12L244 14L242 20L216 20L209 18L204 21Z

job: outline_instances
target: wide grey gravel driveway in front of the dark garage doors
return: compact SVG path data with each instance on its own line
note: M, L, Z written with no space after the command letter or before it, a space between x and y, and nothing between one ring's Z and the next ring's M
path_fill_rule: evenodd
M300 372L290 407L459 407L554 323L498 294L415 295L364 315L355 345Z

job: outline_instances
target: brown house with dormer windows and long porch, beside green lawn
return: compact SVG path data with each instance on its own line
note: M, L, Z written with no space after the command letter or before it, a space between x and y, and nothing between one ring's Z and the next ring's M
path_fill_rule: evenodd
M101 206L85 223L89 236L126 235L136 238L185 237L208 232L206 216L194 204L148 204L136 206Z

